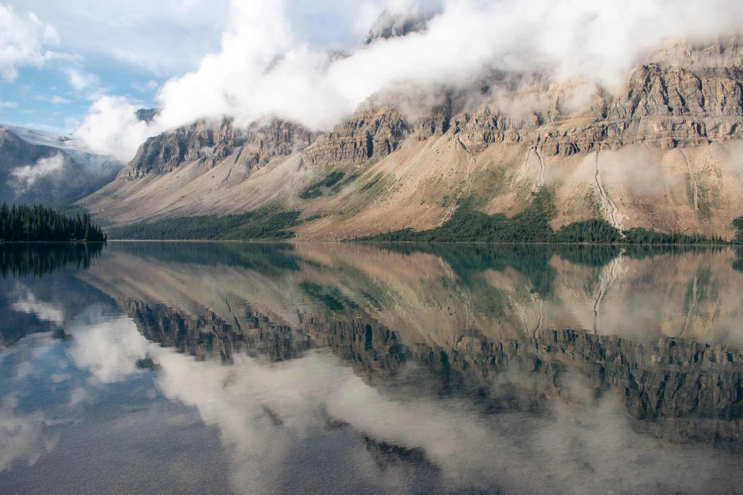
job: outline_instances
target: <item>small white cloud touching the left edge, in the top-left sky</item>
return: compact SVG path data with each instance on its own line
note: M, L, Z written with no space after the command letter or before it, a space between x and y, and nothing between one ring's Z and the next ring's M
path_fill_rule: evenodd
M19 16L12 6L0 4L0 75L8 82L18 76L22 65L39 67L63 56L45 48L59 43L56 30L39 21L33 13Z

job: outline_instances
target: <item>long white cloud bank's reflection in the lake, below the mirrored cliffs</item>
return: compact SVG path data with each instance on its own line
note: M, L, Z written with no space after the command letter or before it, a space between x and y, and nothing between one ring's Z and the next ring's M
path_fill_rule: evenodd
M90 327L82 320L71 326L76 364L101 381L120 381L136 371L137 359L149 355L160 365L163 393L198 407L204 422L220 428L233 464L233 488L240 493L281 491L284 485L330 490L339 478L349 489L376 485L380 491L403 491L384 485L383 478L395 479L394 469L379 471L362 435L424 449L446 490L481 483L505 493L704 493L713 482L724 491L741 481L735 479L741 471L731 469L741 467L737 456L637 433L617 398L591 399L580 377L566 380L578 399L574 403L551 401L539 415L485 415L461 398L391 399L328 350L273 364L239 354L226 366L149 343L129 318L97 321L90 313L88 318ZM347 426L333 430L330 423ZM337 439L322 461L321 447L333 435ZM343 435L357 442L341 442ZM332 475L318 479L317 466L303 464L300 451L314 452L315 462L322 461ZM719 487L725 479L730 486Z

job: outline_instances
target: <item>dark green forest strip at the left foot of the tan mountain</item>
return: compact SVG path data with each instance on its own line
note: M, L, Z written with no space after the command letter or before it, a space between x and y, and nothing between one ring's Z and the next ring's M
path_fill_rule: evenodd
M302 223L299 210L265 207L224 217L167 218L152 223L114 227L109 239L119 240L280 240L293 237L286 229Z

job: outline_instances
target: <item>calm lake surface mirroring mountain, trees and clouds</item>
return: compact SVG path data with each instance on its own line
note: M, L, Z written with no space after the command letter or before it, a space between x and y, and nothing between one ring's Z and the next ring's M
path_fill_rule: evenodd
M1 494L743 494L743 251L0 246Z

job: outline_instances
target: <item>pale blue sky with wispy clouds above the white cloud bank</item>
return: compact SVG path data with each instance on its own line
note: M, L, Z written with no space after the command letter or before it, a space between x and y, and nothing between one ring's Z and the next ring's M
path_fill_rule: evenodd
M368 29L362 24L371 24L384 7L369 1L287 3L293 36L320 49L352 47ZM60 133L74 131L91 102L104 94L156 105L155 94L167 79L194 71L205 54L218 52L230 14L227 0L4 0L0 5L13 10L11 25L36 24L41 37L51 27L57 39L42 40L39 51L59 54L41 64L21 60L14 79L0 79L0 122Z

